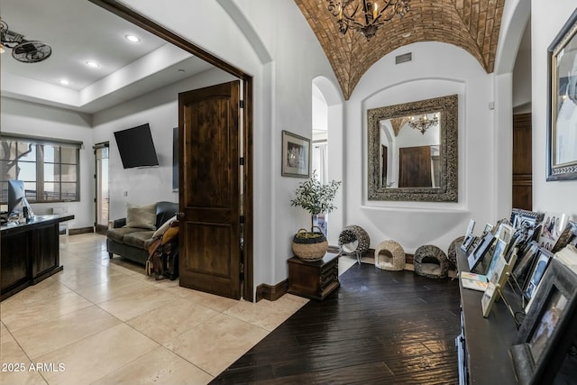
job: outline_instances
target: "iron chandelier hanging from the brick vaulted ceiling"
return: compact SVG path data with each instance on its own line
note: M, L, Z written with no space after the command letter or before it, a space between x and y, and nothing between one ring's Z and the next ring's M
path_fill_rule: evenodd
M339 31L345 34L349 28L361 32L367 41L377 29L395 15L402 18L408 13L410 0L327 0L328 11L336 17ZM361 11L361 12L359 12Z

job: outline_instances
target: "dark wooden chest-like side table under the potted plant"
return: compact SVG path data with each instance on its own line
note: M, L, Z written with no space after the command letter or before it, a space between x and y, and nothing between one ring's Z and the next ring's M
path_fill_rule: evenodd
M289 259L289 293L322 301L339 283L339 254L327 252L320 261Z

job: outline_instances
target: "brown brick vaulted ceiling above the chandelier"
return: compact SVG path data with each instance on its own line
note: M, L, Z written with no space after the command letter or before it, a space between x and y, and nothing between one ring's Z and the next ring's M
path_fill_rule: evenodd
M411 0L408 14L380 27L371 41L352 30L341 34L327 10L327 0L295 3L325 50L348 100L372 64L392 50L418 41L442 41L461 47L487 73L493 72L505 0Z

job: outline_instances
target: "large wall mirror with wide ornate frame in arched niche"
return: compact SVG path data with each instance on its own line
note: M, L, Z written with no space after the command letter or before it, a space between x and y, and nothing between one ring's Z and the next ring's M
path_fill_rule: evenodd
M457 202L458 97L372 108L369 200Z

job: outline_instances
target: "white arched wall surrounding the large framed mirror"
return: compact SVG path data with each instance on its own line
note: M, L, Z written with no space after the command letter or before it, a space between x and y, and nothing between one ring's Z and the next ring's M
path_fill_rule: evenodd
M399 53L412 62L395 65ZM387 76L383 76L386 74ZM371 247L394 239L406 252L435 244L445 252L474 218L493 223L492 75L466 51L440 42L391 52L369 69L346 103L346 225L360 225ZM367 199L367 110L385 105L459 96L459 202L388 202Z

